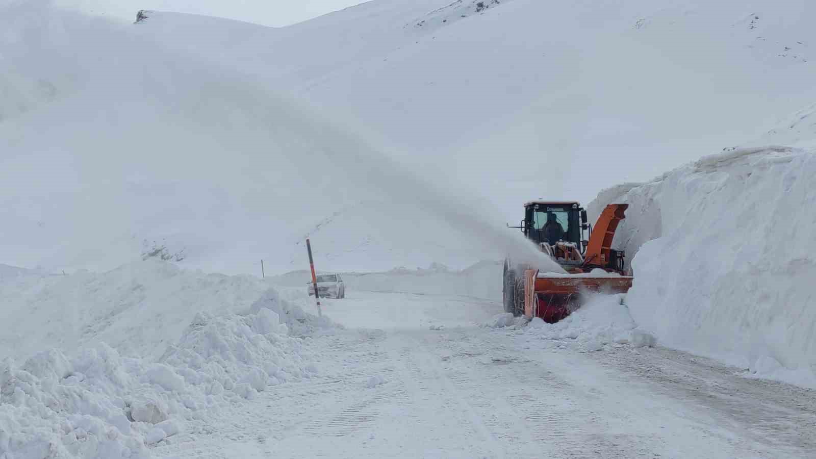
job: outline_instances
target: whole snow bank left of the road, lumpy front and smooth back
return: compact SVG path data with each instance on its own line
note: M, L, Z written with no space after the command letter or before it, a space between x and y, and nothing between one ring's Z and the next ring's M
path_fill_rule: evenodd
M125 286L122 272L134 274ZM2 280L4 307L17 301L30 319L3 345L19 352L0 363L0 457L149 457L149 445L217 416L226 403L310 377L316 369L297 336L331 323L268 285L259 292L261 285L153 261ZM80 323L65 319L69 292L80 304L91 300L74 319L86 321L81 345L25 358L49 341L69 344L53 342Z

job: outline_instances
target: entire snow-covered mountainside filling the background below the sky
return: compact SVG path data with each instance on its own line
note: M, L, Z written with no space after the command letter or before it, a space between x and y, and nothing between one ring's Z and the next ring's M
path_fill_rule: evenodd
M311 235L325 269L462 269L503 255L494 224L526 198L643 180L816 95L804 0L479 3L271 29L7 2L3 262L111 269L165 247L257 274L302 267Z

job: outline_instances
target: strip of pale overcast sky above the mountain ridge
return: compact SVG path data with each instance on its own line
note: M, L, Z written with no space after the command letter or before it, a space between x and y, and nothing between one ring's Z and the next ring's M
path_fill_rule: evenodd
M280 27L331 11L351 7L361 0L55 0L65 7L133 21L136 11L158 10L195 13L245 20Z

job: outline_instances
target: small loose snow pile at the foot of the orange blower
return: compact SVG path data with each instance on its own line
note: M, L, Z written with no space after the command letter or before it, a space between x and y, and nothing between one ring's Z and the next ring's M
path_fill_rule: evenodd
M624 298L623 294L592 295L579 310L560 322L544 323L534 318L528 330L547 340L569 340L589 351L609 344L654 346L654 336L637 328Z

